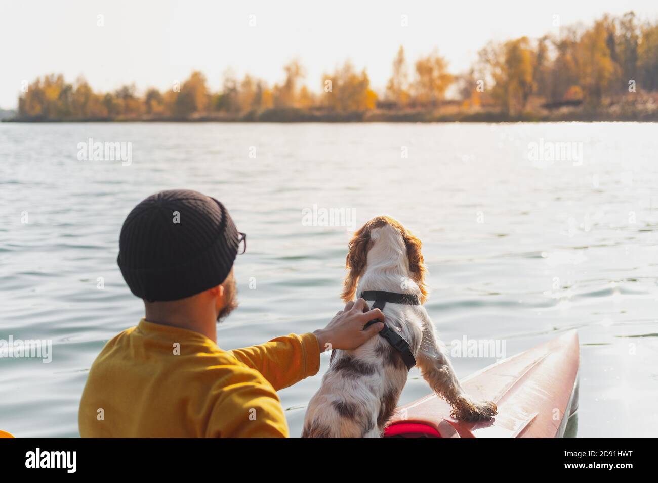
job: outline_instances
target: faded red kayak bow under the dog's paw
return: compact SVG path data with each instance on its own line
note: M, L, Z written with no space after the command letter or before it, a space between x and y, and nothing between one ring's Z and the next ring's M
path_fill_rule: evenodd
M430 394L399 407L384 437L561 438L578 408L579 362L578 334L569 331L462 381L473 399L497 404L493 421L457 421L450 405Z

